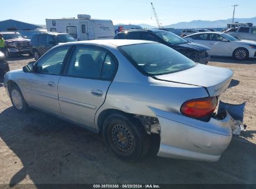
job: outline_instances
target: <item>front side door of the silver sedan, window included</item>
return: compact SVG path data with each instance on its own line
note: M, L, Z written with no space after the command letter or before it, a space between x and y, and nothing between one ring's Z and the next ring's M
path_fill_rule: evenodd
M37 109L62 116L57 86L70 46L50 50L36 62L35 71L28 73L27 103Z

